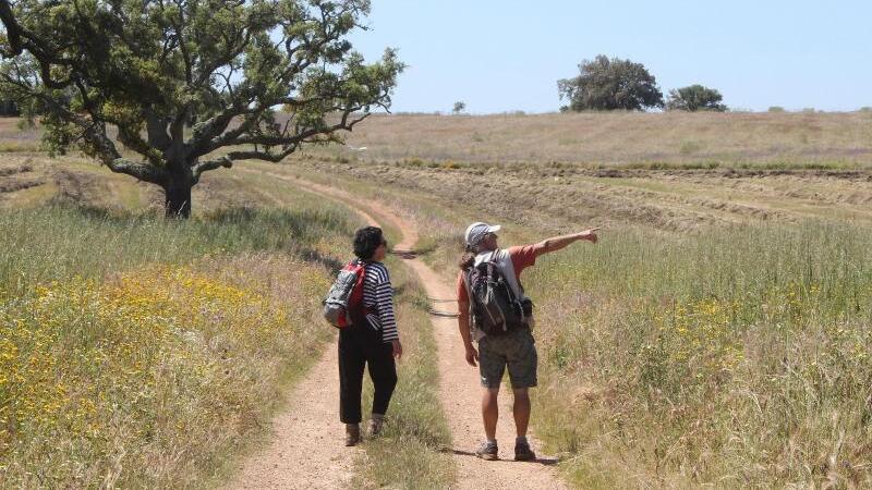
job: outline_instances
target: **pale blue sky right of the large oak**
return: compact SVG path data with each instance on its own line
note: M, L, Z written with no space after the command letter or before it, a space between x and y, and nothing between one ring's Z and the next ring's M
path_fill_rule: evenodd
M367 59L409 64L392 111L555 111L557 79L598 53L643 63L664 94L693 83L730 107L872 106L871 0L373 0Z

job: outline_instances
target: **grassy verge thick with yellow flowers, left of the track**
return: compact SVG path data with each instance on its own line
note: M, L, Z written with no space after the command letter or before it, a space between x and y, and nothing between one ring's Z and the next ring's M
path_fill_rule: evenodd
M215 481L329 336L315 317L356 224L311 199L185 223L77 207L0 222L3 488Z

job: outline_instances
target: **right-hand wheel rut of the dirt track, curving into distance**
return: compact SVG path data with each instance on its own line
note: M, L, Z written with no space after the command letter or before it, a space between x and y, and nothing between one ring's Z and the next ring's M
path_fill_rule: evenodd
M358 198L342 189L280 174L270 173L269 175L286 180L303 189L351 205L367 222L372 223L380 220L386 224L389 223L403 234L400 243L393 247L393 253L407 259L404 264L419 275L427 295L431 298L443 301L456 297L452 287L446 284L433 269L422 260L415 259L411 254L408 254L417 242L417 231L414 223L405 221L378 203ZM366 209L370 212L362 209ZM434 309L440 311L453 310L456 313L457 307L456 304L450 302L439 302ZM506 404L510 402L511 395L505 393L506 390L500 393L504 403L501 404L500 421L497 427L500 457L505 460L485 462L475 457L474 451L484 437L480 409L481 387L479 384L477 369L469 366L464 360L464 351L457 329L457 320L439 316L432 316L431 319L439 351L440 399L445 413L448 414L453 438L453 454L458 468L457 488L476 490L482 488L566 488L555 474L554 460L540 455L540 461L537 462L517 463L511 461L514 449L514 422L511 418L511 409ZM336 385L335 382L329 384ZM330 406L330 414L335 411L336 407ZM532 440L532 442L534 449L541 448L537 441ZM299 478L299 471L294 478Z

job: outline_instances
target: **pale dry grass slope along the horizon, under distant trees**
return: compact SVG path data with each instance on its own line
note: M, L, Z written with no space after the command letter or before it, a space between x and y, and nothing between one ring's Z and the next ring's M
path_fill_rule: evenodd
M348 143L366 150L338 155L371 161L868 168L872 114L378 115L355 127Z

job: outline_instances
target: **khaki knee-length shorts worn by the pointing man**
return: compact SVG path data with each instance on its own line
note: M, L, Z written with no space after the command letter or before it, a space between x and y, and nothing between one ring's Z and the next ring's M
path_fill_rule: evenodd
M479 341L479 372L482 387L499 388L502 373L509 368L512 389L536 385L535 340L530 329L522 328L506 335L485 335Z

